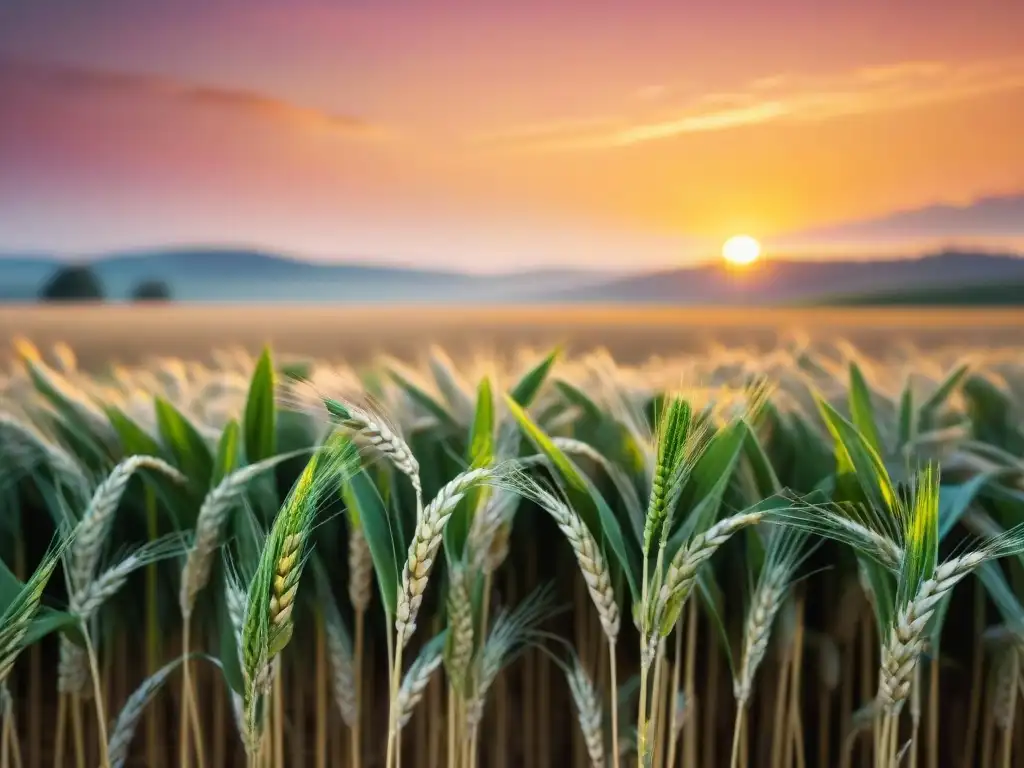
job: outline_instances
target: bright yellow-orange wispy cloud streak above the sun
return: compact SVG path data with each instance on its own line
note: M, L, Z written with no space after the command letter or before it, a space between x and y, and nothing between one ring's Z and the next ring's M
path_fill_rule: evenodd
M728 91L691 97L671 113L556 120L530 125L528 130L513 127L485 139L516 150L606 150L689 133L820 122L1019 89L1024 89L1024 56L966 63L899 61L834 75L775 74Z

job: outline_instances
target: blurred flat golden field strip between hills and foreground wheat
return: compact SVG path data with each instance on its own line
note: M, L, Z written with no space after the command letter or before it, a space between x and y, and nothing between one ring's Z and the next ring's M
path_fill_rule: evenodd
M742 309L658 307L419 306L85 306L0 307L0 364L10 339L41 346L63 341L86 368L148 355L208 359L211 349L271 343L283 353L365 361L378 352L416 357L427 342L453 354L498 353L521 346L565 344L570 352L607 348L634 364L650 355L700 351L713 344L773 347L780 335L843 338L865 352L915 347L1019 343L1017 309Z

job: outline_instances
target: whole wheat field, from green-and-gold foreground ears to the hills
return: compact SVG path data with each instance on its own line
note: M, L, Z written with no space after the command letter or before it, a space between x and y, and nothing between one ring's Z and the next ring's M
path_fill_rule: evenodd
M1018 318L809 311L2 310L0 765L1024 765Z

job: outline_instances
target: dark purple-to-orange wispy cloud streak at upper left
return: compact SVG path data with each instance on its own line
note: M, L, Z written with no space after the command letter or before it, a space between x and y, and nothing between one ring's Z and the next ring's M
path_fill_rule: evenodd
M58 97L88 98L110 95L159 98L185 106L327 130L351 138L374 138L385 134L381 126L355 115L306 106L260 91L210 85L160 75L0 57L0 85L4 80L20 89L30 88Z

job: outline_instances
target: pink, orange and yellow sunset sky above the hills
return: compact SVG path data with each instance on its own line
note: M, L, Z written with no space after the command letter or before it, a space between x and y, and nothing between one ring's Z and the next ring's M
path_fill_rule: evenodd
M0 253L1024 247L1024 3L6 0Z

